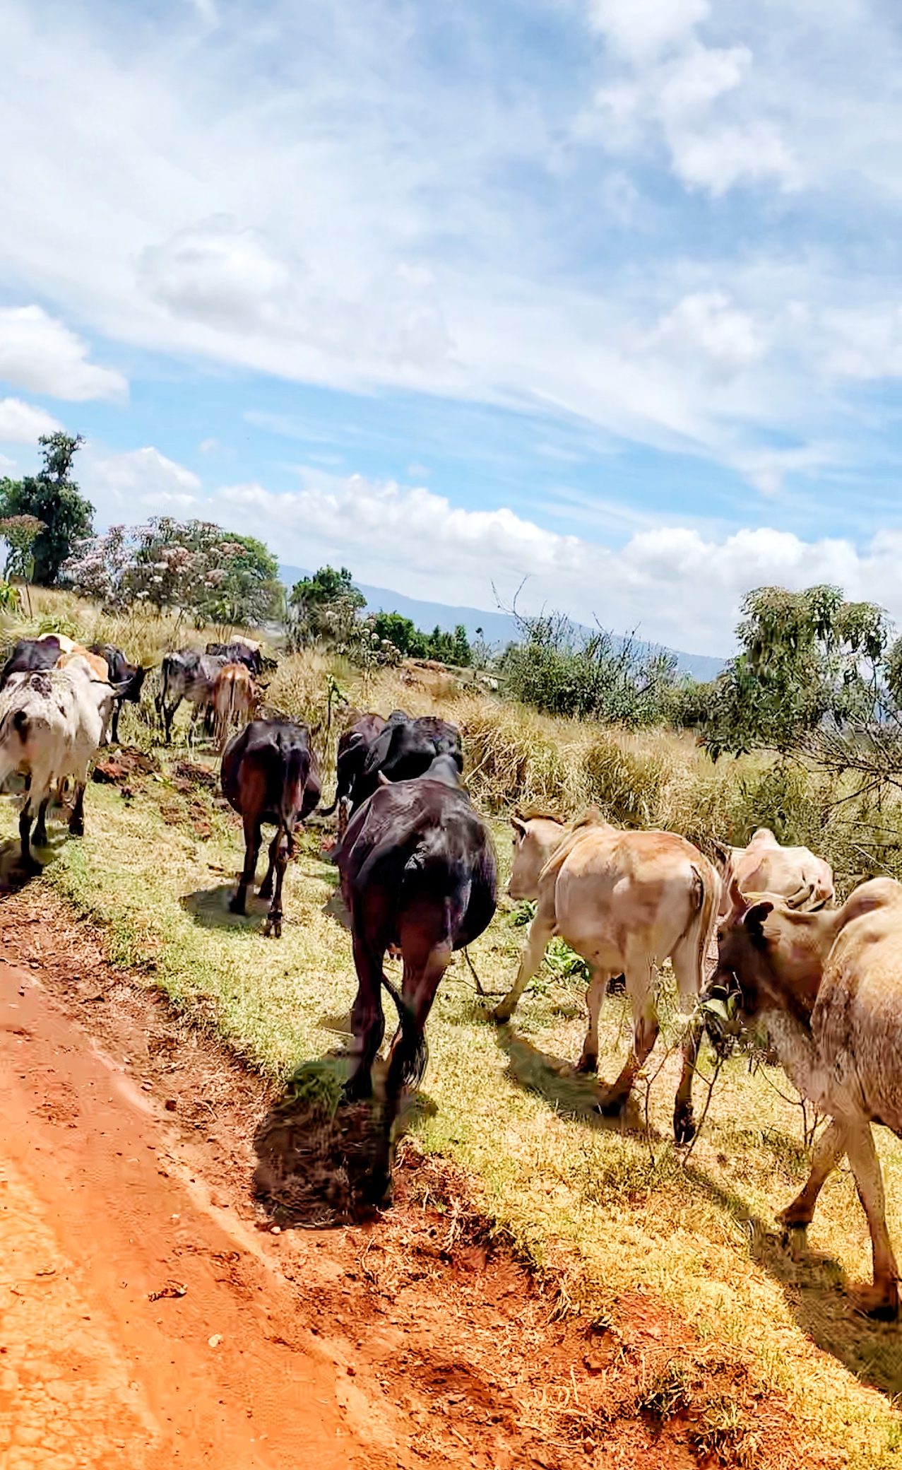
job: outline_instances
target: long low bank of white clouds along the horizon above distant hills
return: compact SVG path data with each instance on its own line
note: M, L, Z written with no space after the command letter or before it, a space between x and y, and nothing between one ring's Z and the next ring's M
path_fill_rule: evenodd
M298 491L241 484L204 504L223 525L251 525L263 537L278 526L279 556L289 563L344 563L363 582L475 607L494 606L492 588L513 597L527 578L524 609L558 607L589 625L598 616L614 631L638 628L690 653L729 654L740 600L762 584L836 582L902 623L902 532L883 531L861 550L845 538L804 541L768 528L717 539L658 526L613 547L546 531L510 509L463 510L422 487L316 470Z

